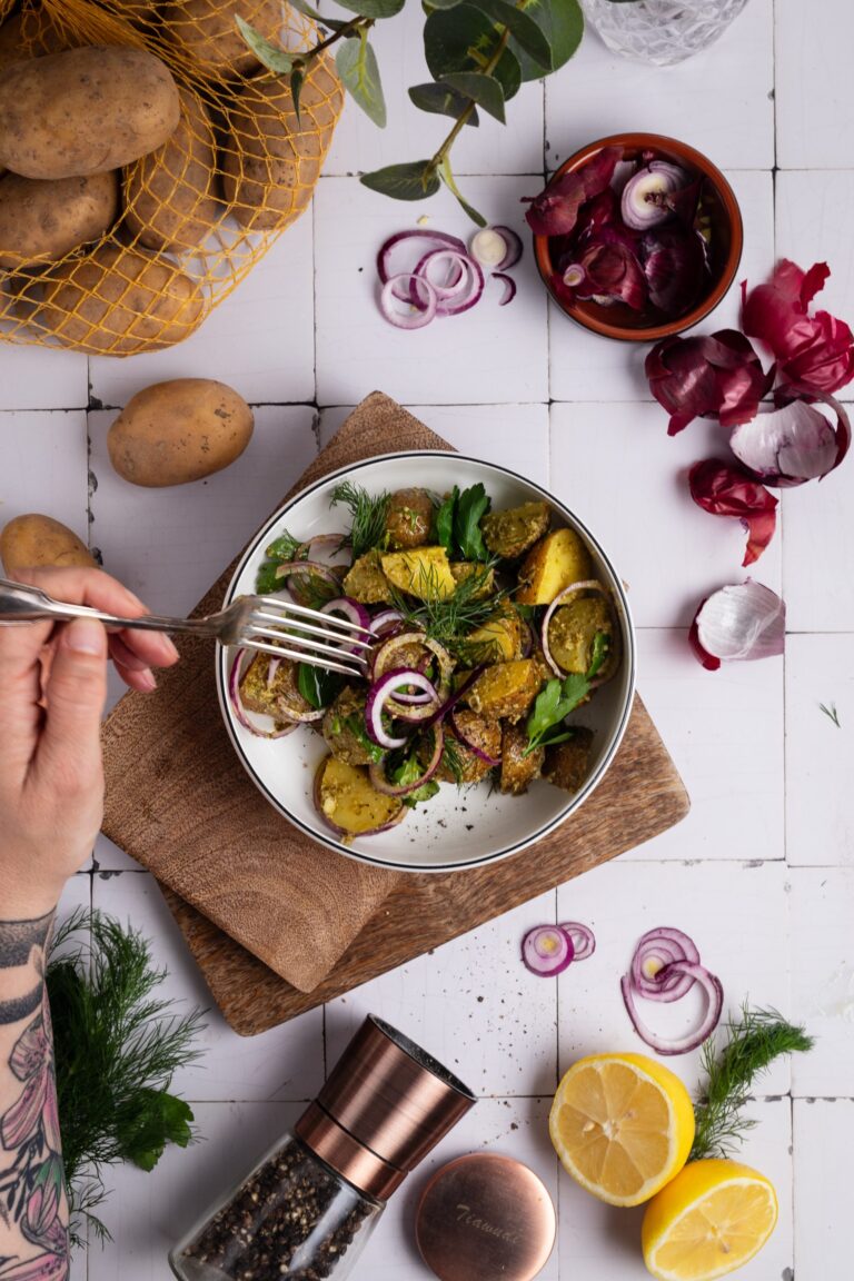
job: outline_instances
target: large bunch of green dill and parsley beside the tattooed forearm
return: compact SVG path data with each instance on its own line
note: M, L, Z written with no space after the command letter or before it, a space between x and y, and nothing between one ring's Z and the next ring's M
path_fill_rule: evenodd
M152 1170L168 1143L186 1148L193 1114L169 1093L200 1057L201 1011L177 1015L154 995L166 976L146 939L101 912L74 912L56 931L46 971L72 1240L105 1199L104 1171L124 1161Z

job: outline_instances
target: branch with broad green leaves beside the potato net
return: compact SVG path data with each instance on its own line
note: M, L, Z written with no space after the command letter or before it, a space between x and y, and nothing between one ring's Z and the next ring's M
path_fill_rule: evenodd
M335 65L344 87L383 128L385 99L369 32L378 20L399 14L405 0L338 0L356 15L347 20L326 18L306 0L289 3L329 32L306 53L271 45L242 18L237 24L262 65L288 79L297 114L311 61L337 44ZM542 79L563 67L581 42L584 17L579 0L425 0L423 9L424 54L433 78L414 85L408 96L421 111L451 117L453 127L433 156L388 165L361 181L396 200L423 200L444 183L483 227L485 219L457 188L451 149L466 126L478 127L479 110L504 124L506 104L525 81Z

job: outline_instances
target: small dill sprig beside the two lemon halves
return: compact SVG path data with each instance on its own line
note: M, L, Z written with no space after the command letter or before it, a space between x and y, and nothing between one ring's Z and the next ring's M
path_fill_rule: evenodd
M805 1053L813 1038L786 1022L776 1009L741 1007L726 1025L727 1044L718 1052L713 1036L703 1045L705 1091L694 1104L697 1131L689 1161L729 1157L744 1141L754 1122L743 1116L750 1088L782 1054Z

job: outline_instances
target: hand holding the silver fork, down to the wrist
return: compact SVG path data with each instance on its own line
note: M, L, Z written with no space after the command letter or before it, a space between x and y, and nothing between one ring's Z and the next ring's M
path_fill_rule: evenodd
M146 607L95 569L17 575L49 596L124 617ZM51 911L90 857L104 816L101 714L108 656L132 689L155 688L152 666L178 651L155 632L115 632L92 619L0 626L0 899L5 920Z

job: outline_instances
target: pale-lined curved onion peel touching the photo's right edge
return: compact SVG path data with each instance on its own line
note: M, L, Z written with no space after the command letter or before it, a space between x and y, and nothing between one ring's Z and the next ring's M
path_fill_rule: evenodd
M736 427L730 448L766 484L795 485L826 477L837 468L851 443L845 409L834 396L822 396L836 414L836 427L814 405L793 400L781 409L758 412Z

